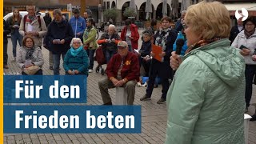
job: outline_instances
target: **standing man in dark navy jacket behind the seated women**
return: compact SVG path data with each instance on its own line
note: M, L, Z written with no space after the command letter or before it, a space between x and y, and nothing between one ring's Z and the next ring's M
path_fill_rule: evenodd
M48 26L47 39L54 57L54 75L59 75L60 58L64 59L67 50L70 49L70 42L73 38L73 30L69 22L62 18L59 9L53 11L54 21Z

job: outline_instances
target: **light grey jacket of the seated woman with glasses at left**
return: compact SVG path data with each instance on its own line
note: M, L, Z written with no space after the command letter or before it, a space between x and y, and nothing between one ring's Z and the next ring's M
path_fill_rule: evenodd
M17 52L17 63L19 68L23 68L26 62L26 49L21 46ZM34 60L32 60L35 66L42 67L43 65L43 57L42 50L39 47L36 47L34 50Z

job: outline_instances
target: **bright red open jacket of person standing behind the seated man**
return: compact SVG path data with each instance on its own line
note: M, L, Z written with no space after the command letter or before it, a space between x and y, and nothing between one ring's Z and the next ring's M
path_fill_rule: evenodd
M122 29L122 32L121 32L121 39L122 41L126 41L126 31L127 31L127 26L125 26L123 29ZM138 38L139 38L139 34L138 34L138 27L134 24L130 24L130 32L131 32L131 35L130 37L134 38L134 39L131 39L131 47L133 49L138 49Z

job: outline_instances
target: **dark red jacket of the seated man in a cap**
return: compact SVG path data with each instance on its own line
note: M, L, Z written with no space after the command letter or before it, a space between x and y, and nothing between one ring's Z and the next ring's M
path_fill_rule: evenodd
M108 78L117 78L118 69L121 66L122 57L120 54L114 54L110 59L110 62L106 66L106 75ZM138 56L134 53L128 51L128 54L123 60L122 70L121 70L122 79L126 81L137 80L139 81L139 64Z

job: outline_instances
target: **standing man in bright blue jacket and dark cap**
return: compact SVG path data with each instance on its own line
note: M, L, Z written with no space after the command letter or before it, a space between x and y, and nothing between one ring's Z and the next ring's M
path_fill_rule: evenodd
M74 38L80 38L82 41L83 32L86 30L86 20L82 18L78 9L73 10L73 17L70 18L70 25L74 32ZM82 41L83 42L83 41Z

